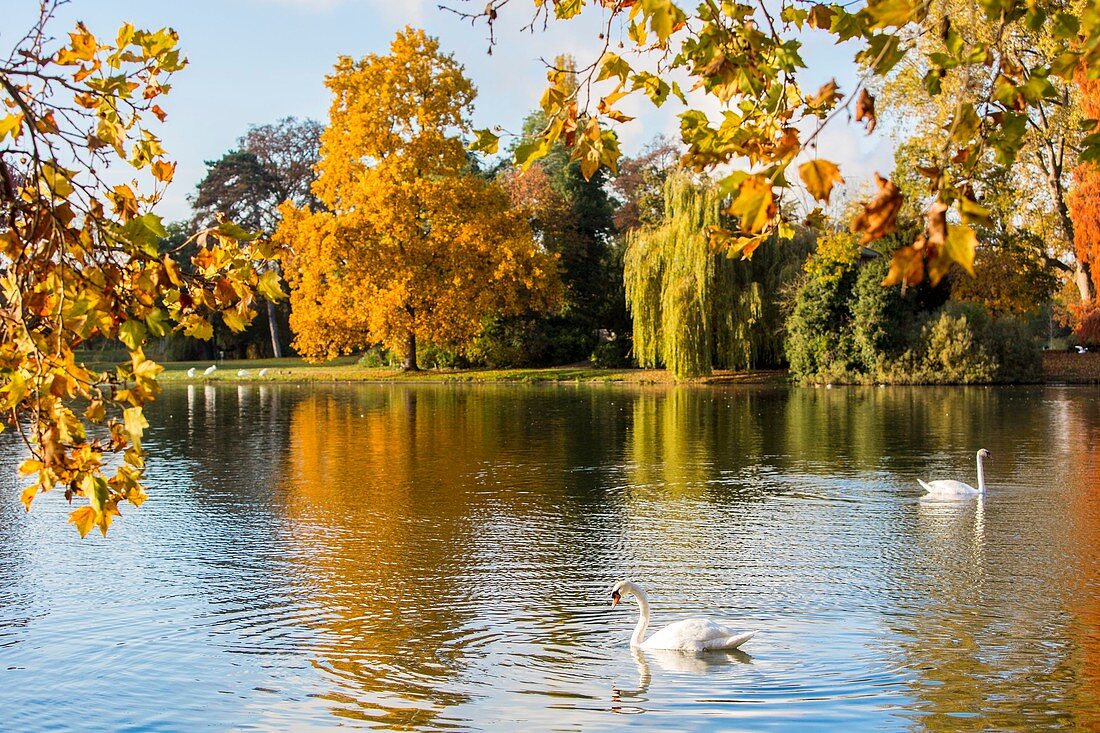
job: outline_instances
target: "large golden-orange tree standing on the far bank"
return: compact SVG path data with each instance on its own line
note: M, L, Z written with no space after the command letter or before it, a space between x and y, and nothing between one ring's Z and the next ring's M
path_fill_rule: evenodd
M494 314L549 307L557 264L461 139L474 88L424 31L385 56L340 58L315 193L286 205L297 349L331 358L384 343L416 369L417 340L461 347Z

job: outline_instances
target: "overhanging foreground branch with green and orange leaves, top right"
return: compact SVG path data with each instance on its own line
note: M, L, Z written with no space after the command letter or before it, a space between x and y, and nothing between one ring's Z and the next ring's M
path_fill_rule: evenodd
M516 158L529 164L563 140L586 175L602 165L614 171L619 158L615 125L630 121L622 100L635 95L657 106L679 102L684 108L681 140L691 163L697 168L735 168L723 182L733 194L726 212L735 226L715 228L712 240L739 252L798 216L793 207L781 206L780 195L796 180L815 199L828 203L843 172L827 160L827 150L817 150L823 125L847 112L871 133L878 118L870 87L889 77L902 59L915 59L925 69L916 89L921 100L942 99L950 110L944 144L930 169L946 169L955 158L979 161L990 151L1012 166L1024 146L1046 144L1044 131L1032 120L1058 95L1052 80L1071 79L1078 67L1091 68L1100 59L1100 9L1084 1L978 0L968 8L985 31L968 35L953 32L952 19L938 12L942 4L780 0L690 8L673 0L534 0L531 29L598 15L601 52L579 63L572 78L563 69L548 69L541 99L546 128L538 140L516 150ZM487 23L491 43L502 14L518 7L509 0L491 0L484 7L453 0L443 6ZM1047 28L1041 50L1004 43ZM802 87L800 73L807 67L802 34L811 32L856 48L861 74L851 88L843 89L835 80L816 90ZM691 89L681 87L683 78ZM708 112L700 95L721 113ZM492 151L498 140L496 132L482 130L475 145ZM1069 151L1054 145L1058 163ZM1100 138L1087 138L1081 153L1100 154ZM862 244L897 229L901 192L882 176L877 184L877 193L862 201L851 222ZM931 269L928 275L936 280L952 263L970 265L972 226L987 216L979 193L964 169L959 177L931 175L930 197L922 212L924 231L894 252L892 278L915 277L917 271L923 276Z

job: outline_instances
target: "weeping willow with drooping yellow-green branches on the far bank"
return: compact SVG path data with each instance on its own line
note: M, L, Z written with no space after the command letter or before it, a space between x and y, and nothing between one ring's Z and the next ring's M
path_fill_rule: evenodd
M723 200L685 173L664 184L664 218L628 237L624 280L634 317L634 353L678 380L714 366L754 369L782 361L780 292L798 275L811 238L767 242L751 260L715 253L708 227L723 226Z

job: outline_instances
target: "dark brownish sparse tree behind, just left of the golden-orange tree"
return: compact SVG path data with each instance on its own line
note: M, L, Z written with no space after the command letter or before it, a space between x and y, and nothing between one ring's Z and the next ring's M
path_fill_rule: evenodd
M274 124L251 127L235 149L217 161L207 161L207 174L191 198L195 225L210 226L228 218L251 231L271 234L278 227L278 207L284 201L316 206L311 187L320 138L321 124L315 120L287 117ZM272 300L266 305L272 352L279 358L279 317Z

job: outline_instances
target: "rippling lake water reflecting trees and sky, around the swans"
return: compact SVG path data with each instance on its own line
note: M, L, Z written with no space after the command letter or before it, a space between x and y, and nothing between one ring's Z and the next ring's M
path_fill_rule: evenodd
M177 387L82 541L3 434L0 727L1100 730L1098 395Z

